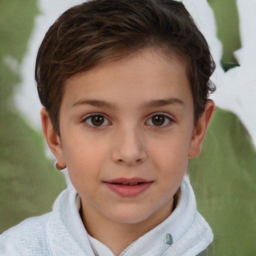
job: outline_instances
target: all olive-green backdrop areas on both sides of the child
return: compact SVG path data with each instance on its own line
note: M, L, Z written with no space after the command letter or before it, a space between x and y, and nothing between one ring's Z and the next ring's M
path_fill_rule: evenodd
M237 64L233 51L240 47L235 1L208 2L227 70ZM11 55L20 63L37 13L35 0L0 0L0 232L50 211L64 188L62 174L45 156L41 132L14 107L12 94L20 74L3 61ZM256 255L256 154L234 114L216 109L201 154L189 162L189 174L198 211L214 234L207 254Z

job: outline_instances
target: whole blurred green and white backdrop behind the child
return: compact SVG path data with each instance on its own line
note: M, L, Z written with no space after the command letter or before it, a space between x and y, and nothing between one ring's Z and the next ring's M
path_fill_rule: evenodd
M51 210L64 188L40 128L36 51L78 0L0 0L0 232ZM208 255L256 255L256 1L183 0L216 62L217 105L201 154L189 162Z

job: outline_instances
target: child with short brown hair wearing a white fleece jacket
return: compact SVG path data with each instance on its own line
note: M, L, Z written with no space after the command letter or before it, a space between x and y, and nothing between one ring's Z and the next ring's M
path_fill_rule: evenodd
M0 236L0 255L206 253L212 232L186 168L214 112L214 67L179 1L65 11L40 45L35 79L44 137L71 182L52 212Z

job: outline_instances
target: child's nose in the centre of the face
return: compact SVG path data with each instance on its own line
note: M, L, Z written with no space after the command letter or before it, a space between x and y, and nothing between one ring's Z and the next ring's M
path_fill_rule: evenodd
M113 161L126 165L138 165L145 161L145 141L141 132L134 127L122 129L115 134L114 149L111 154Z

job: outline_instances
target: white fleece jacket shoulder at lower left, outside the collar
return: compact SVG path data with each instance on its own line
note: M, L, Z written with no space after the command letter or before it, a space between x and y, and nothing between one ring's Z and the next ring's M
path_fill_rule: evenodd
M46 222L50 213L27 218L0 235L0 255L48 255Z

